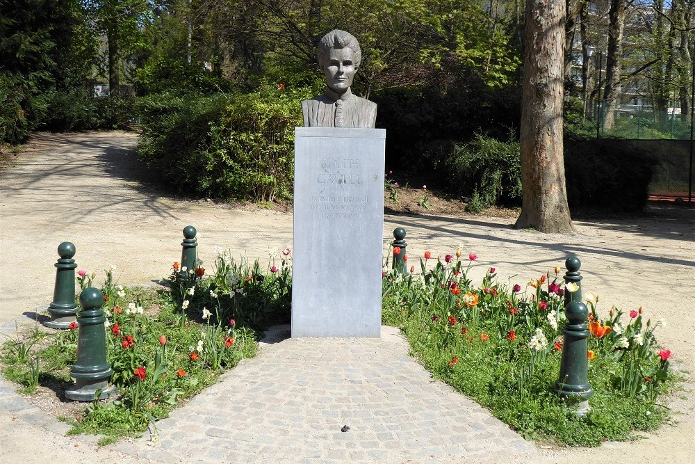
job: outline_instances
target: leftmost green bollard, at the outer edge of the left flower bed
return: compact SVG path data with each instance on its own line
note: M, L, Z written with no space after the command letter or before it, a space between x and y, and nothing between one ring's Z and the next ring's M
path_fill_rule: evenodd
M75 301L75 246L69 241L58 245L58 262L55 264L56 287L53 291L53 302L48 307L51 319L43 321L50 328L67 329L75 321L77 303Z

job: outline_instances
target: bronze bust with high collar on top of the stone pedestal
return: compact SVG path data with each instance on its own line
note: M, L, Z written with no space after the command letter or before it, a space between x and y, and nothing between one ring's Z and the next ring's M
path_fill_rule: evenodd
M352 95L350 86L362 51L350 33L335 29L318 45L318 64L326 75L323 95L302 101L305 127L374 127L377 104Z

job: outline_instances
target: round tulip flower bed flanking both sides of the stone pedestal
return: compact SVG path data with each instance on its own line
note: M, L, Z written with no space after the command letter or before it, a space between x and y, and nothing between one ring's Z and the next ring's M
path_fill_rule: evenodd
M118 395L91 403L77 419L66 418L72 433L102 434L102 442L110 442L148 425L154 432L156 419L253 356L263 328L288 322L291 250L269 249L263 266L219 252L212 275L202 263L194 269L174 263L167 291L124 289L115 284L114 270L106 270L106 346ZM565 285L558 268L525 288L500 284L496 269L488 269L475 286L467 275L477 256L461 255L459 249L442 260L425 252L420 273L404 277L384 269L382 275L382 320L403 330L435 378L526 438L559 445L626 440L667 419L658 400L675 381L671 352L658 349L655 339L663 321L614 307L602 318L598 298L587 294L594 397L589 413L578 417L553 387L560 380L565 292L580 289ZM78 275L82 289L96 277ZM18 334L0 352L3 376L27 393L42 385L65 388L76 362L76 329L74 324L62 332L34 328Z

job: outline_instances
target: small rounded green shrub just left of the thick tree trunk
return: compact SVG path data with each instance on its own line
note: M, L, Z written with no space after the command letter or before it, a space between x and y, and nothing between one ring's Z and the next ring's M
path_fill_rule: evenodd
M521 166L514 134L507 143L477 134L470 143L455 144L439 156L445 160L448 191L472 197L484 206L520 204Z

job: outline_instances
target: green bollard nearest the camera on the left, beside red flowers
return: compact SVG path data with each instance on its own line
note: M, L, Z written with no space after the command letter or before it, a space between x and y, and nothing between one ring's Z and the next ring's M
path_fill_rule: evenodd
M113 369L106 360L106 317L101 312L102 304L104 295L98 289L89 287L80 294L77 363L70 371L76 383L65 389L67 399L94 401L99 390L99 399L111 397L116 392L116 387L108 385Z

